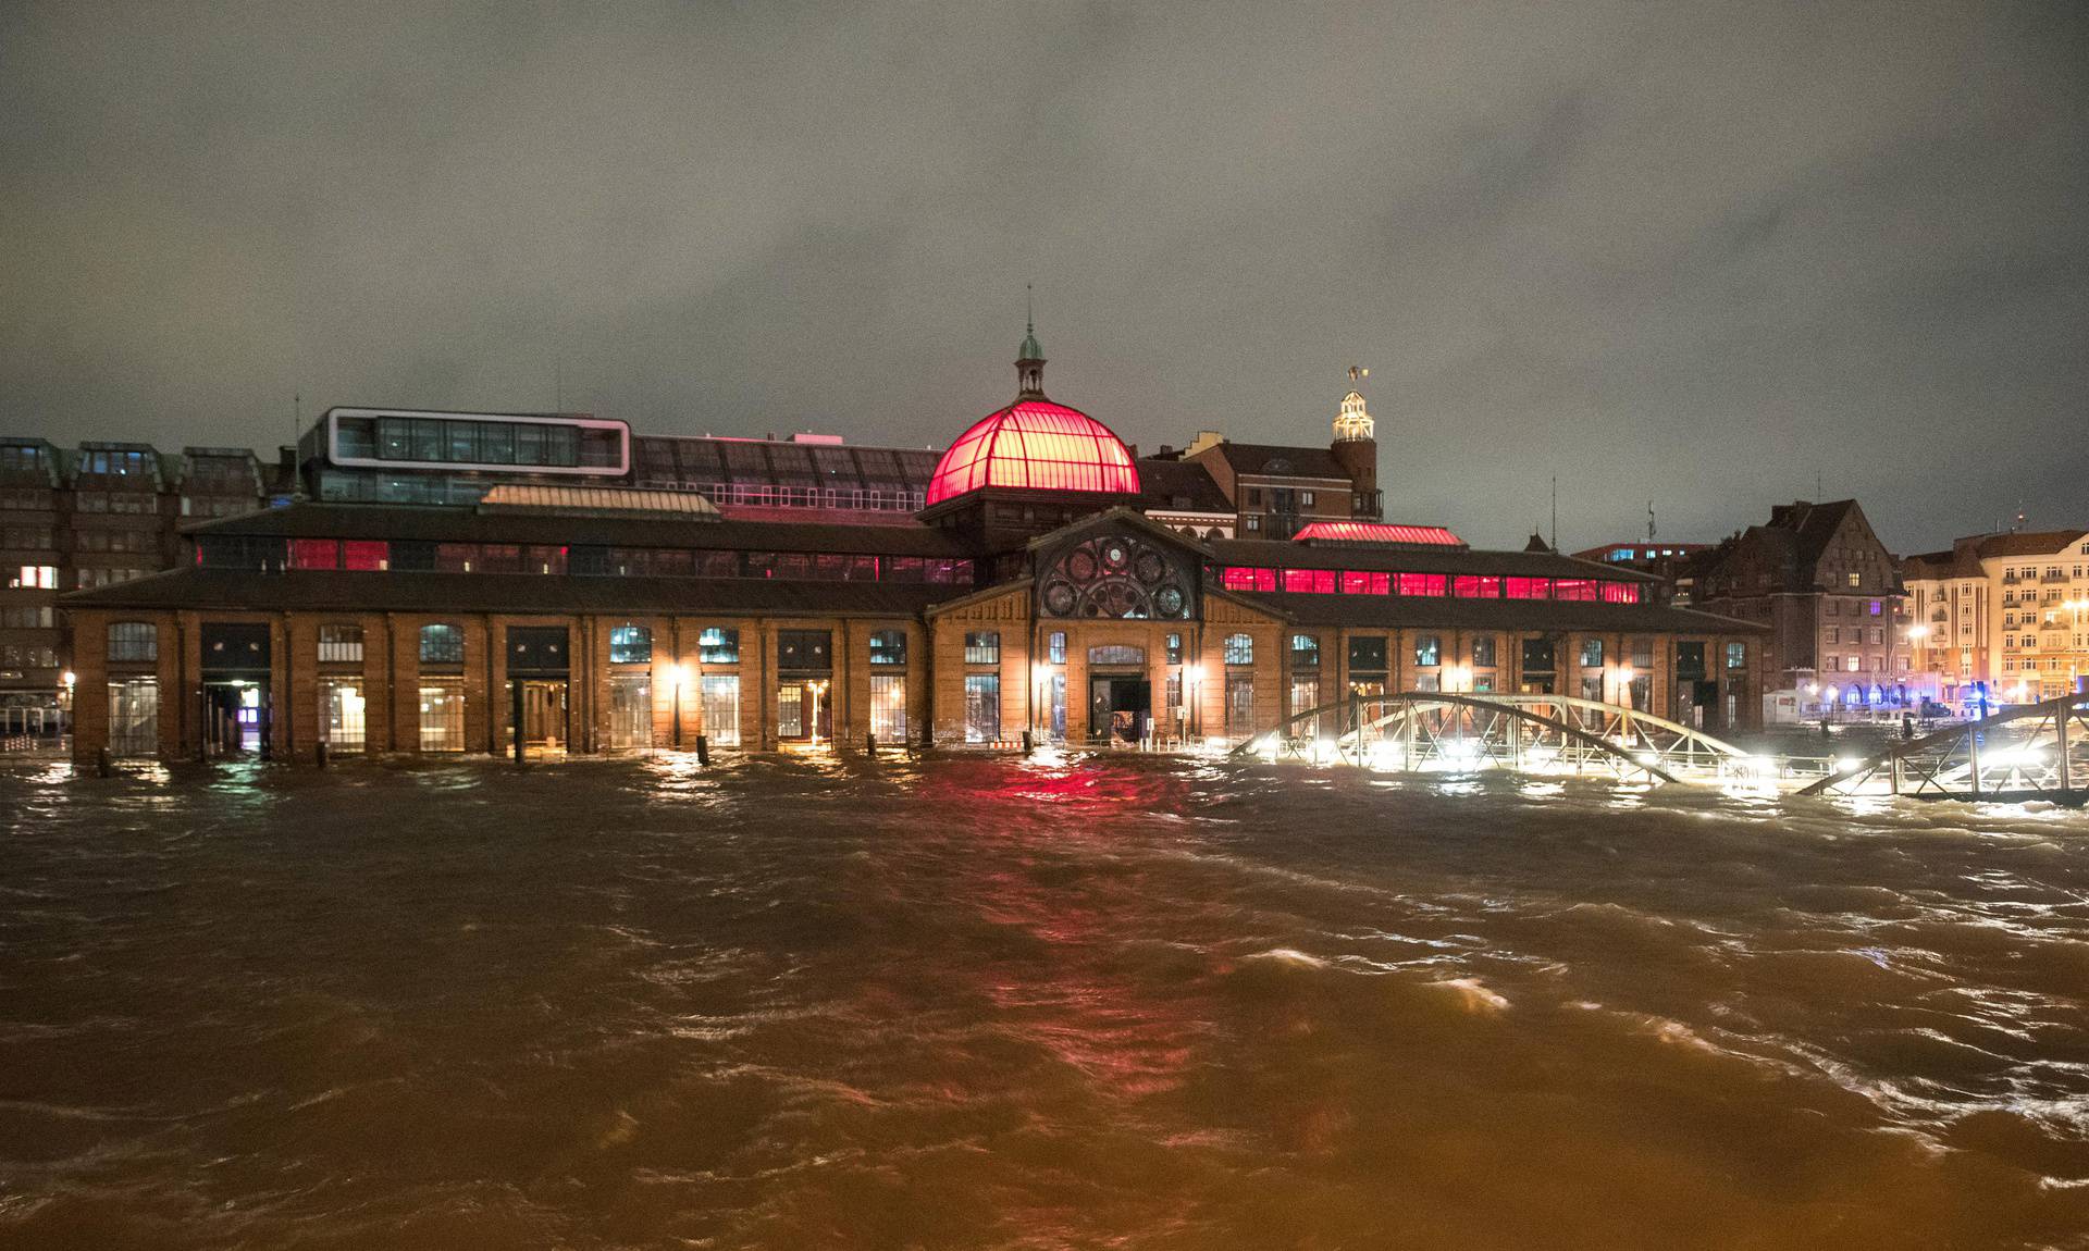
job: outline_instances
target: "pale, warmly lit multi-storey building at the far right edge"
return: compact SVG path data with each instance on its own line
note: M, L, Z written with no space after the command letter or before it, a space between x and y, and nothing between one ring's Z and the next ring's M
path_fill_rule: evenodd
M2089 681L2089 530L1972 535L1901 562L1916 670L1978 710Z

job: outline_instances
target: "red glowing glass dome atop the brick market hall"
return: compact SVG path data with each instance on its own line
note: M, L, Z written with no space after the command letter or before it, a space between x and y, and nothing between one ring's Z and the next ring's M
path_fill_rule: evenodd
M982 487L1139 495L1132 449L1080 409L1024 397L957 436L936 462L928 503Z

